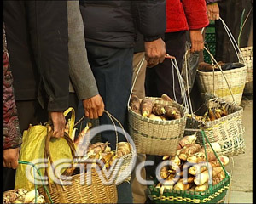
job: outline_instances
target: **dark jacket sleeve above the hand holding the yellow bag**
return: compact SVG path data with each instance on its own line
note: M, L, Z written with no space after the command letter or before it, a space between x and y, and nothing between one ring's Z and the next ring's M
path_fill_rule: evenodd
M26 1L33 54L49 97L48 111L68 107L66 1Z

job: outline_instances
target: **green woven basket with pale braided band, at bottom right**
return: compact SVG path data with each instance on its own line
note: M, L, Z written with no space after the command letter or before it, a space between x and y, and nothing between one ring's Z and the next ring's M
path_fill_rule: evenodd
M202 135L202 137L207 139L206 135ZM207 142L209 142L208 139ZM216 152L214 150L213 152L218 158ZM225 196L230 186L230 173L226 172L222 164L221 167L224 169L225 178L218 184L209 184L209 189L206 191L164 190L160 192L160 188L155 188L151 185L148 188L149 198L153 200L154 203L224 203Z

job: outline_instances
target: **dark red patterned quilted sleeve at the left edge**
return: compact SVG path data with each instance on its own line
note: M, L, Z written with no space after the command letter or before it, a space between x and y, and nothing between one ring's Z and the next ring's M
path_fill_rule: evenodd
M10 71L9 54L3 25L3 150L21 144L21 133L15 105L13 77Z

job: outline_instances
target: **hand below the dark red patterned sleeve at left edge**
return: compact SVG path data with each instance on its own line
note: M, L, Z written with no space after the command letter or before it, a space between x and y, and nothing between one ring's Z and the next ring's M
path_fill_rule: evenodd
M18 167L20 147L3 150L3 167L16 169Z

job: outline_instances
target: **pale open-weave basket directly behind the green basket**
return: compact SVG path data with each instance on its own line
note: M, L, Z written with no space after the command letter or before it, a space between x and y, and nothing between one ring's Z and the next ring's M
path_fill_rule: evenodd
M220 107L228 111L227 116L202 124L193 117L187 119L186 131L189 129L203 129L211 143L218 142L221 146L219 154L224 156L237 156L245 152L245 140L242 126L243 109L241 106L227 103L223 99L214 98L207 101L207 108ZM197 142L202 144L201 134L197 134Z

